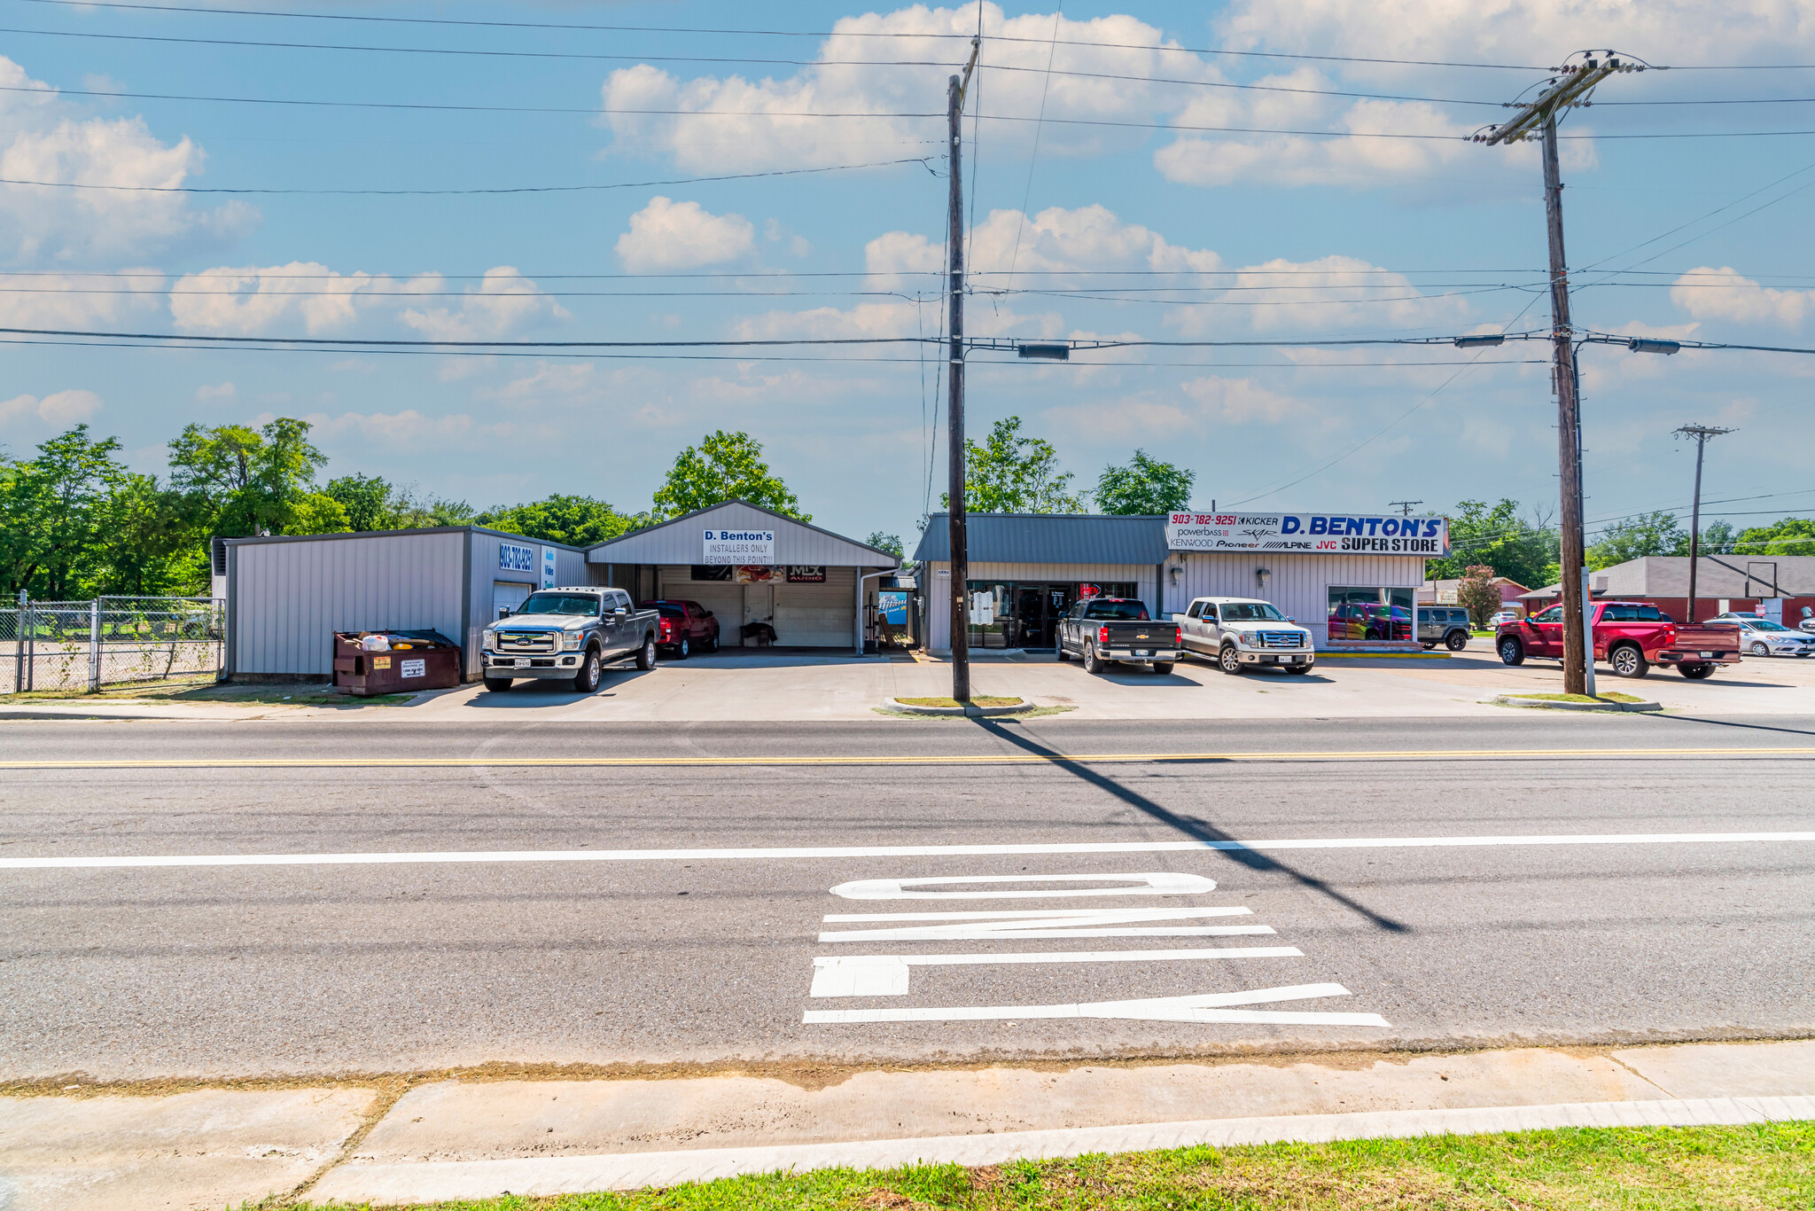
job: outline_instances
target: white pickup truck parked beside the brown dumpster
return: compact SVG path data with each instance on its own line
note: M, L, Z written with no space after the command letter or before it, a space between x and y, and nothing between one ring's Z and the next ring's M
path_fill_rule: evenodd
M499 694L514 677L572 679L581 694L599 688L606 661L637 657L655 668L655 610L633 610L623 588L543 588L485 628L485 688Z

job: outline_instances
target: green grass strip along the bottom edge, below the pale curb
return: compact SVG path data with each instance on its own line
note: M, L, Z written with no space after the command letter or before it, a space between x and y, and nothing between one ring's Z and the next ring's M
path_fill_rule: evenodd
M1183 1147L984 1169L826 1169L630 1195L432 1206L436 1211L1808 1211L1811 1202L1815 1124L1793 1122Z

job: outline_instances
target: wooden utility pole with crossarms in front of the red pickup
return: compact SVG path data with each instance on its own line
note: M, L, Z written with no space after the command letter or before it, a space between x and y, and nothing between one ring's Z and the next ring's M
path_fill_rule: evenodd
M1563 172L1557 167L1557 111L1586 105L1597 84L1623 71L1641 71L1608 51L1581 65L1559 67L1550 85L1526 102L1510 120L1476 134L1479 143L1517 143L1543 134L1545 225L1550 236L1550 345L1557 385L1557 470L1561 474L1561 590L1563 590L1563 692L1588 692L1588 665L1594 652L1586 643L1586 597L1583 579L1583 478L1581 478L1581 401L1575 376L1575 329L1570 323L1568 258L1563 254Z

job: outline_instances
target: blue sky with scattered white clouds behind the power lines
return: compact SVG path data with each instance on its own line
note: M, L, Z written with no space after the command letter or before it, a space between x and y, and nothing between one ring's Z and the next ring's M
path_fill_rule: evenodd
M938 281L926 271L944 256L946 182L926 165L944 171L944 118L895 114L944 113L944 80L967 51L951 34L975 31L976 5L309 9L686 33L0 5L9 180L463 191L831 169L439 196L0 185L5 327L379 340L940 330ZM750 25L837 36L697 33ZM966 122L971 263L986 271L967 303L975 334L1307 340L1543 327L1532 147L1229 129L1459 136L1503 113L1477 102L1539 84L1534 67L1610 45L1672 71L1621 76L1597 98L1648 103L1599 103L1565 125L1577 323L1815 343L1815 133L1768 134L1815 131L1815 102L1779 100L1815 98L1815 71L1757 69L1815 64L1806 0L1643 11L1614 0L1074 4L1062 18L1051 5L986 4L984 29L971 107L984 118ZM1138 49L1153 45L1185 49ZM797 116L826 113L866 116ZM1125 125L1089 125L1105 122ZM1615 138L1635 134L1672 138ZM851 167L913 158L926 165ZM933 350L806 347L748 361L702 352L715 359L15 345L0 350L0 441L25 454L85 419L118 434L138 468L162 470L163 443L189 421L305 416L329 474L383 474L476 507L583 492L633 510L679 448L744 428L802 507L837 530L911 536L917 514L937 505ZM1710 447L1704 494L1761 497L1710 512L1746 525L1808 510L1811 372L1815 358L1786 354L1590 347L1588 517L1684 505L1690 447L1670 430L1690 421L1739 430ZM973 434L1018 414L1085 487L1142 447L1196 470L1200 505L1445 508L1512 496L1554 508L1555 407L1537 341L1485 352L1154 349L1062 367L978 356L969 383Z

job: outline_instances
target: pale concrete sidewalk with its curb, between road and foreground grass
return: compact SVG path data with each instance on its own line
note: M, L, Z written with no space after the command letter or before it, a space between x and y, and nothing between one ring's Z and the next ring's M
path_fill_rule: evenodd
M0 1098L0 1206L408 1204L777 1167L1815 1118L1815 1042Z

